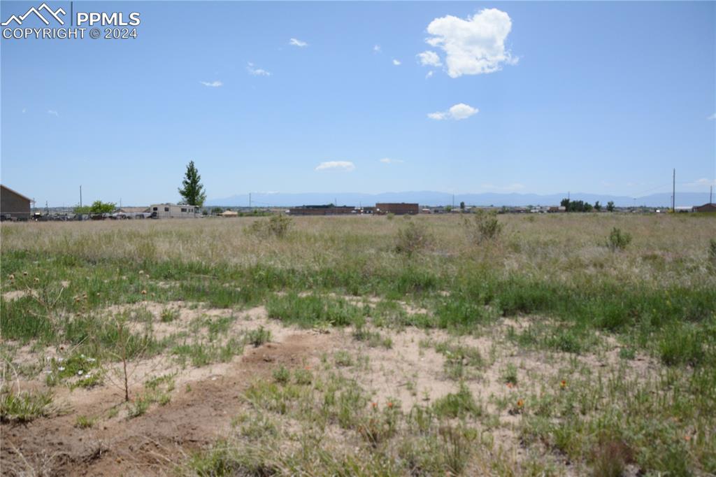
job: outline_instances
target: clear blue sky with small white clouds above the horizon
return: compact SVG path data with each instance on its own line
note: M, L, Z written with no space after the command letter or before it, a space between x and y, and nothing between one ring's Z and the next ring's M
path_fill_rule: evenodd
M3 1L2 19L33 5ZM1 41L0 178L38 204L73 205L80 184L84 201L178 201L189 160L209 198L716 177L714 2L73 7L142 21L137 39Z

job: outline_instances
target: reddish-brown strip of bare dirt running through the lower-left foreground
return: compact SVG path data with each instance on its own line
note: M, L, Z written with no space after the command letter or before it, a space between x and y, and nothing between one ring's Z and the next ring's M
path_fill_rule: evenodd
M170 403L153 406L133 419L101 421L94 428L75 427L77 415L107 410L121 402L116 390L92 393L82 408L26 425L2 426L2 473L18 475L164 475L191 450L227 435L241 408L246 387L268 376L279 364L300 365L329 346L329 336L299 332L282 342L249 350L226 373L178 386ZM32 469L32 471L31 471ZM26 475L26 474L25 474Z

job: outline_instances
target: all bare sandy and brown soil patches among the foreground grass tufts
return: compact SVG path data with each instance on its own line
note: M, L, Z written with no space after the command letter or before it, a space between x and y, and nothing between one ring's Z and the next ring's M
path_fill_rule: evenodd
M168 308L175 309L178 317L172 322L161 322L160 314ZM498 422L490 429L493 451L519 462L525 457L516 430L520 416L511 412L510 406L499 403L505 400L516 403L523 397L523 391L536 390L546 382L558 382L568 357L521 350L504 339L505 329L523 329L528 326L528 319L503 319L482 334L463 337L411 327L382 329L380 332L392 339L392 347L386 348L369 347L365 342L356 341L349 328L325 333L284 327L267 319L263 307L205 309L201 304L184 302L143 302L111 307L107 312L137 309L152 315L153 332L158 337L185 332L195 326L198 317L236 315L228 335L261 326L271 331L272 341L256 348L247 347L243 355L231 362L204 367L180 366L165 356L140 362L138 375L175 373L175 388L169 403L152 405L136 418L128 418L125 408L112 413L123 401L119 387L104 385L74 391L56 387L54 412L49 417L27 424L2 425L3 473L92 476L173 473L175 466L194 450L231 433L231 420L245 409L241 396L252 382L270 379L271 372L281 365L289 368L308 365L318 369L321 355L325 360L327 354L338 350L349 352L357 362L362 362L347 372L371 393L374 402L400 403L403 410L410 410L414 405L432 403L458 388L458 382L446 375L445 356L435 350L435 344L440 342L472 347L483 357L484 364L473 370L474 375L468 376L465 382L475 399L497 416ZM421 312L407 306L405 309ZM619 345L604 339L604 347L599 352L577 359L595 370L611 369L619 366L618 353ZM23 347L16 353L16 364L37 362L38 355L31 347ZM57 350L48 348L44 355L57 355ZM505 384L502 375L508 365L516 367L518 385ZM629 373L637 377L651 375L657 369L652 360L644 357L638 357L632 365ZM43 387L44 383L35 380L22 382L21 386L23 389ZM132 392L136 394L138 389ZM78 428L79 415L97 416L97 423L91 428ZM340 439L340 435L337 438ZM556 456L552 458L559 461ZM561 468L567 475L579 473L569 467Z

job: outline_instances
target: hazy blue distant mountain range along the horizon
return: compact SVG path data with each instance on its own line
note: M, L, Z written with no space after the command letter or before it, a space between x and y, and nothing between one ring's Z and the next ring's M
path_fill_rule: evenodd
M421 206L450 206L455 201L455 206L465 202L468 206L558 206L566 193L556 193L541 196L539 194L519 193L480 193L480 194L453 194L435 191L411 191L411 192L385 192L379 194L365 193L252 193L251 205L256 207L291 207L335 203L339 206L373 206L377 202L417 202ZM671 206L671 193L658 193L649 196L633 197L609 196L607 194L594 193L571 193L570 198L574 201L586 201L594 203L599 201L606 205L614 201L617 207L647 206L667 207ZM707 192L678 192L676 193L676 205L679 206L700 206L709 201ZM248 194L231 196L227 198L216 198L206 202L207 206L248 206Z

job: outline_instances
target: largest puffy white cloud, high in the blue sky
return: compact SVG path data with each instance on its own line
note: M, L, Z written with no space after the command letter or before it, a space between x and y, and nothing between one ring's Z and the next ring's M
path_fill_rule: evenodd
M467 19L447 15L432 20L427 26L432 37L425 42L445 52L450 77L492 73L499 71L504 63L518 61L505 49L505 39L511 29L512 20L504 11L483 9Z

